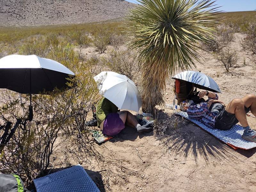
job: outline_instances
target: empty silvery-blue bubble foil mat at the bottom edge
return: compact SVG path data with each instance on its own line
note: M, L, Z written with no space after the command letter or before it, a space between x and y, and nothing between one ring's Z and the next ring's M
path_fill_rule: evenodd
M80 165L34 179L37 192L100 192Z

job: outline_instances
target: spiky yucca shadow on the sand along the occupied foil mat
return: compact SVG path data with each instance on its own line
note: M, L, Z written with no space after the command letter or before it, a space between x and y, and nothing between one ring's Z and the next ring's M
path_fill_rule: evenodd
M256 152L256 149L234 150L181 116L162 112L158 118L156 138L170 150L171 155L184 156L185 160L192 157L196 163L199 158L208 162L210 157L215 157L232 161L236 159L237 152L246 157Z

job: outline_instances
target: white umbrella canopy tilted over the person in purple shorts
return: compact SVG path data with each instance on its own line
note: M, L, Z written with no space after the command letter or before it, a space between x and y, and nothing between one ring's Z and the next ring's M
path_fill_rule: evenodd
M139 111L141 107L140 92L134 82L125 75L103 71L94 77L101 94L119 109Z

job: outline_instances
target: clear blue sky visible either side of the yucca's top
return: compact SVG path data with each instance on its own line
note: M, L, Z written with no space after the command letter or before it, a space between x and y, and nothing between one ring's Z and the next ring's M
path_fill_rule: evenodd
M136 3L136 0L127 0ZM253 11L256 9L256 0L217 0L217 3L222 6L220 9L233 12L233 11Z

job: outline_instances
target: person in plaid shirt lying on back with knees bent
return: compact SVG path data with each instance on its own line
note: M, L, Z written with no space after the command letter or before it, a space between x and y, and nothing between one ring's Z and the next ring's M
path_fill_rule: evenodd
M256 116L256 95L233 99L227 106L218 100L216 93L201 91L198 96L201 99L205 95L208 96L207 101L196 104L193 100L186 100L180 103L180 109L212 129L229 130L240 122L244 128L242 138L256 142L256 131L250 128L246 118L249 111Z

